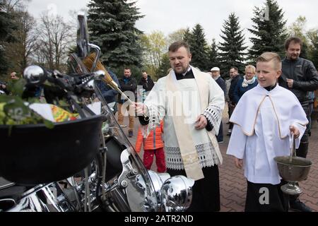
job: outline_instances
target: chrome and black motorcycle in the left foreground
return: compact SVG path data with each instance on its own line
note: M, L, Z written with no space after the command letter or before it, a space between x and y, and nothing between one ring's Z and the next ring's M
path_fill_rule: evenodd
M95 85L107 74L95 70L100 48L88 42L85 16L78 15L78 25L78 52L69 57L73 73L28 66L23 78L27 88L42 86L52 103L64 97L81 119L54 123L53 129L0 125L1 143L7 147L0 150L0 212L186 210L194 180L143 166ZM95 59L88 69L83 59L91 50Z

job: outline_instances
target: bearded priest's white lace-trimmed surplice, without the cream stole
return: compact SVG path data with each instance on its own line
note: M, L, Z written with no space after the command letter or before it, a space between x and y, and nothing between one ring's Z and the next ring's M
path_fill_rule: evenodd
M176 85L178 90L181 90L182 93L182 105L184 113L186 114L184 123L189 125L200 165L201 167L211 167L220 164L220 157L218 157L215 148L213 148L211 140L208 137L208 131L206 131L206 129L196 130L194 126L196 124L196 118L200 114L204 114L213 125L212 133L215 134L218 132L225 105L224 93L208 73L202 73L194 68L192 68L192 71L195 73L195 76L204 76L206 83L208 83L209 88L206 95L208 95L209 105L205 106L204 112L201 112L199 88L194 78L176 81ZM175 73L173 73L173 76L175 76ZM175 134L175 127L171 117L173 114L180 114L180 112L171 112L167 107L167 101L173 101L173 95L175 94L167 92L166 82L167 76L160 78L144 102L148 107L150 119L147 132L144 136L148 136L148 133L150 133L155 126L160 124L160 120L164 119L163 136L167 168L184 169L177 136Z

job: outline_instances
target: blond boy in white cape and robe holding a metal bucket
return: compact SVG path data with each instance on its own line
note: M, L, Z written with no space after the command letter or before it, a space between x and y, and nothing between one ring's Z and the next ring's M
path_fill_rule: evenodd
M242 96L230 118L234 127L227 154L235 157L238 168L245 168L245 211L288 210L288 196L281 191L285 182L274 157L290 155L292 134L299 146L308 121L297 97L277 84L280 75L278 54L261 54L259 85Z

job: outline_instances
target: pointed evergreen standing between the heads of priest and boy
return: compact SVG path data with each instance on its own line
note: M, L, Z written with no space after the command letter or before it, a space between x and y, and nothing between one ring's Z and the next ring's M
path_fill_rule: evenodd
M245 37L240 28L239 18L235 13L230 13L228 20L223 24L222 35L224 42L220 42L220 69L229 71L231 66L236 66L240 71L244 71Z

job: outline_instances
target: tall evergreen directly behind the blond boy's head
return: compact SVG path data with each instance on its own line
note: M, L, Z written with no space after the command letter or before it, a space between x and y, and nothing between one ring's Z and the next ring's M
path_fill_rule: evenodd
M285 55L284 42L287 37L284 13L274 0L266 0L265 8L254 8L252 29L249 29L255 37L250 40L253 44L249 49L249 60L254 62L264 52L276 52L283 57Z

